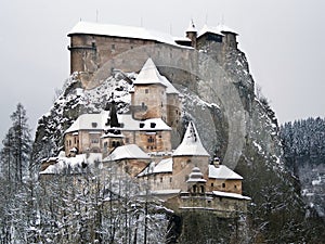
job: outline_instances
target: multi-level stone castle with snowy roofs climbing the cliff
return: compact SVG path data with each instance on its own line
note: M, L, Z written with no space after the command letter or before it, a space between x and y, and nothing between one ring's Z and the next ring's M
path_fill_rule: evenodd
M84 25L89 27L88 33L78 31ZM197 35L193 24L186 30L186 39L176 42L154 38L142 28L139 29L144 31L142 36L127 37L131 34L126 29L112 26L116 33L103 35L104 27L79 23L69 34L72 72L91 74L96 66L113 59L115 51L150 42L165 41L180 48L218 42L236 48L235 33L207 30ZM96 66L89 66L93 59ZM145 181L152 194L174 210L209 209L221 217L245 213L250 198L242 195L243 177L221 165L218 158L210 159L192 121L181 143L172 143L172 131L181 125L182 94L159 73L152 59L142 66L130 93L130 110L126 114L118 114L112 101L101 114L80 115L63 136L65 156L99 154L103 167L116 165L119 172ZM87 157L81 163L87 163ZM57 172L55 164L44 162L44 165L42 176Z

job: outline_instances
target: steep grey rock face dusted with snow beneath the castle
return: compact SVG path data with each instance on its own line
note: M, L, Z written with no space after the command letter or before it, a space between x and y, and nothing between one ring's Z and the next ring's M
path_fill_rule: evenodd
M208 55L207 55L207 54ZM177 56L177 55L176 55ZM160 73L184 95L183 124L194 121L210 155L244 177L243 194L252 198L247 218L222 220L202 213L184 213L177 230L181 243L288 243L315 241L316 228L308 228L299 184L286 170L274 112L256 97L245 54L229 50L223 59L208 50L197 53L198 70L160 62ZM159 62L156 62L159 65ZM141 64L140 64L141 65ZM159 67L158 67L159 68ZM181 75L178 76L178 73ZM191 74L184 76L183 74ZM82 113L99 113L114 99L126 112L133 74L116 72L92 90L83 90L77 76L70 77L49 114L39 120L34 158L58 153L62 136ZM184 127L179 128L179 133ZM179 227L182 226L182 228ZM216 229L217 228L217 229ZM193 239L197 230L207 234ZM321 233L321 232L320 232ZM313 240L314 239L314 240ZM192 240L190 242L190 240ZM195 242L193 242L195 240ZM172 242L171 242L172 243Z

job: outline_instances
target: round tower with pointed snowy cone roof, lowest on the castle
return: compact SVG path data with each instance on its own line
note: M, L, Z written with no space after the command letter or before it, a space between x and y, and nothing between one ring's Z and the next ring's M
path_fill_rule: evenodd
M205 178L208 176L209 153L203 146L198 132L191 121L182 143L172 154L172 187L187 190L186 180L193 169L198 167Z

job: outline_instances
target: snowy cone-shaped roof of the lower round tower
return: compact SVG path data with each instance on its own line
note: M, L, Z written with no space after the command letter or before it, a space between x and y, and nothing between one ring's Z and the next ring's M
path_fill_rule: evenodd
M177 147L172 156L209 156L192 121L187 126L182 143Z

